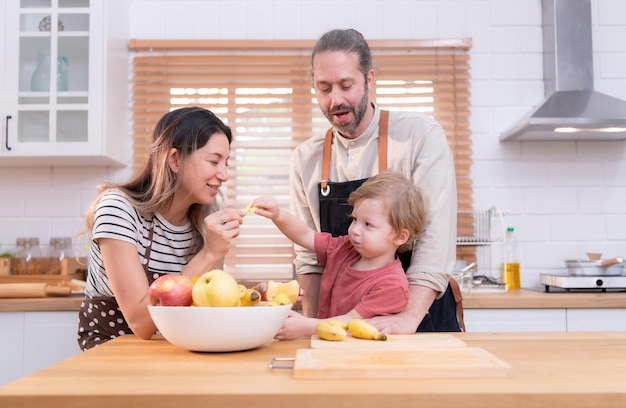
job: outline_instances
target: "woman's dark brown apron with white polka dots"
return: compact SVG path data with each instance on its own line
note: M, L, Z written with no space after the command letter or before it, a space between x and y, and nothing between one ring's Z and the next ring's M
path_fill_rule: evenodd
M149 244L144 254L143 265L143 270L148 278L148 285L162 275L148 270L152 251L152 235L153 228L150 228ZM133 333L113 296L85 296L80 305L78 323L78 345L83 351L118 336Z

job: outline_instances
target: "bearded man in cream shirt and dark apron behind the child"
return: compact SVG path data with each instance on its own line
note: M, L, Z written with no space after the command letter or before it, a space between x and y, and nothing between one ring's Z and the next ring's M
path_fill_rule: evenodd
M385 168L404 173L428 197L431 214L422 239L409 253L411 259L403 261L411 285L407 307L371 321L386 333L460 331L448 287L456 258L456 178L441 125L417 113L381 111L370 100L375 75L372 56L356 30L324 34L313 49L311 68L317 102L332 132L295 149L290 172L292 212L318 231L345 235L350 192ZM296 272L304 289L303 313L315 317L322 267L314 253L295 249Z

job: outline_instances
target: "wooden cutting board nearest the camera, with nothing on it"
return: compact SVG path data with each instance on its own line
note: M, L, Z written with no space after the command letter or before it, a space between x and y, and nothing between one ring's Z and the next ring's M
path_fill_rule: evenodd
M510 377L506 362L479 347L373 350L298 349L297 379L501 378Z

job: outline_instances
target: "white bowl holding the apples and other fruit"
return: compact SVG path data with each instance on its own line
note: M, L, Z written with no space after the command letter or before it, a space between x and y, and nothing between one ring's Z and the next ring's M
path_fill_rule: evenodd
M157 329L170 343L191 351L250 350L274 339L292 305L200 307L148 306Z

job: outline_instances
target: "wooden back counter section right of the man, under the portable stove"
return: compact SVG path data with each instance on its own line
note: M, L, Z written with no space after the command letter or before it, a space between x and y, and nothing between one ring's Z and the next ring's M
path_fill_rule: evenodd
M505 293L463 295L465 309L604 309L626 308L626 292L542 292L512 289Z

